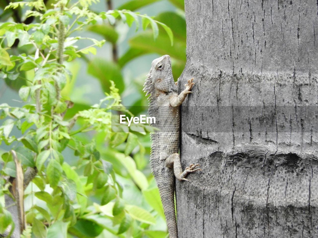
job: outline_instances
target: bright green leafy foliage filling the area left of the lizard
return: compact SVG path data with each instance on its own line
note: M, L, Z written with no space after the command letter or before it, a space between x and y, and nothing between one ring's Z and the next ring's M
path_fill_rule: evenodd
M134 58L151 52L169 54L174 74L183 69L184 17L175 12L156 17L133 12L152 2L156 1L127 1L118 10L99 13L90 10L95 0L1 5L5 10L0 17L8 21L0 23L0 78L18 91L23 106L0 105L0 137L10 147L1 157L0 234L14 227L3 197L10 195L8 177L16 177L16 154L24 173L29 167L38 170L24 191L28 227L23 237L166 236L165 226L158 225L164 214L145 156L150 142L144 135L151 129L128 130L111 113L114 106L131 113L121 104L120 94L126 89L122 69ZM183 8L183 1L171 2ZM135 23L137 31L139 20L144 31L129 40L120 57L113 56L113 61L87 57L105 42L116 47L117 24ZM104 39L80 36L83 29ZM88 41L80 47L80 42ZM99 104L70 101L76 70L67 62L78 58L87 61L88 74L98 78L106 92ZM136 79L134 84L141 92L142 81ZM145 103L141 93L134 105ZM132 108L133 113L138 110L142 109ZM72 158L66 157L67 151L73 151Z

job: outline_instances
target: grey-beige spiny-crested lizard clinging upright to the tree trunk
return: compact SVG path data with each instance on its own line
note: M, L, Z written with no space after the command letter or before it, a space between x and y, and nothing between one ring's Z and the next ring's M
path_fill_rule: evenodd
M172 76L171 59L164 55L151 63L151 69L144 84L144 92L149 95L149 116L156 118L152 126L159 129L150 134L152 141L150 167L162 201L170 238L177 238L175 212L175 178L188 181L186 175L201 170L199 164L190 164L182 170L179 150L180 109L188 94L191 93L193 78L185 84L185 89L178 95L177 82Z

